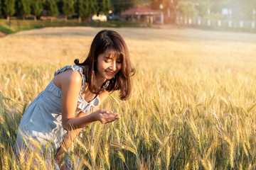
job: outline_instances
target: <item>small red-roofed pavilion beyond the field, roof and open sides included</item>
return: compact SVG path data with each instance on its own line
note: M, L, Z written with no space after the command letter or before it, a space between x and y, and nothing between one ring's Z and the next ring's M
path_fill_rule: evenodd
M142 21L146 23L164 23L164 15L148 6L137 6L121 13L128 21Z

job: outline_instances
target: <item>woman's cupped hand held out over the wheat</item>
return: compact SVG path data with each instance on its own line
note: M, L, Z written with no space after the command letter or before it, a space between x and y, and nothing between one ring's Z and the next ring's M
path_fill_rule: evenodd
M92 113L96 120L99 120L102 124L111 123L114 120L120 119L118 113L112 113L104 109L97 110Z

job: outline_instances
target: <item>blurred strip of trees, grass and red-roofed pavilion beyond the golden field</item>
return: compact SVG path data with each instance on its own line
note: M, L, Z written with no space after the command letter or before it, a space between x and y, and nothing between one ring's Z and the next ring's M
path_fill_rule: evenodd
M255 32L254 0L1 0L0 32L46 26L190 27Z

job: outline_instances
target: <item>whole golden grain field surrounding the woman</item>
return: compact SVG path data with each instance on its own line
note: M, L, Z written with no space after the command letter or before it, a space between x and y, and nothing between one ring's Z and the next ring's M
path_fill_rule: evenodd
M0 38L0 169L48 169L12 149L23 112L54 72L84 60L103 28L43 28ZM79 169L256 169L256 35L114 28L134 67L132 96L100 108L121 119L85 128ZM92 142L92 137L94 141Z

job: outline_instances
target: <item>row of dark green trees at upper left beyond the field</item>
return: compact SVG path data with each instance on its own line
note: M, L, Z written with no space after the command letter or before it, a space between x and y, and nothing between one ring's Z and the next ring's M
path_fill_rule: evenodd
M63 14L65 21L73 13L77 13L79 21L86 20L92 14L109 13L111 9L110 0L0 0L0 16L34 16L36 18L46 16L57 16Z

